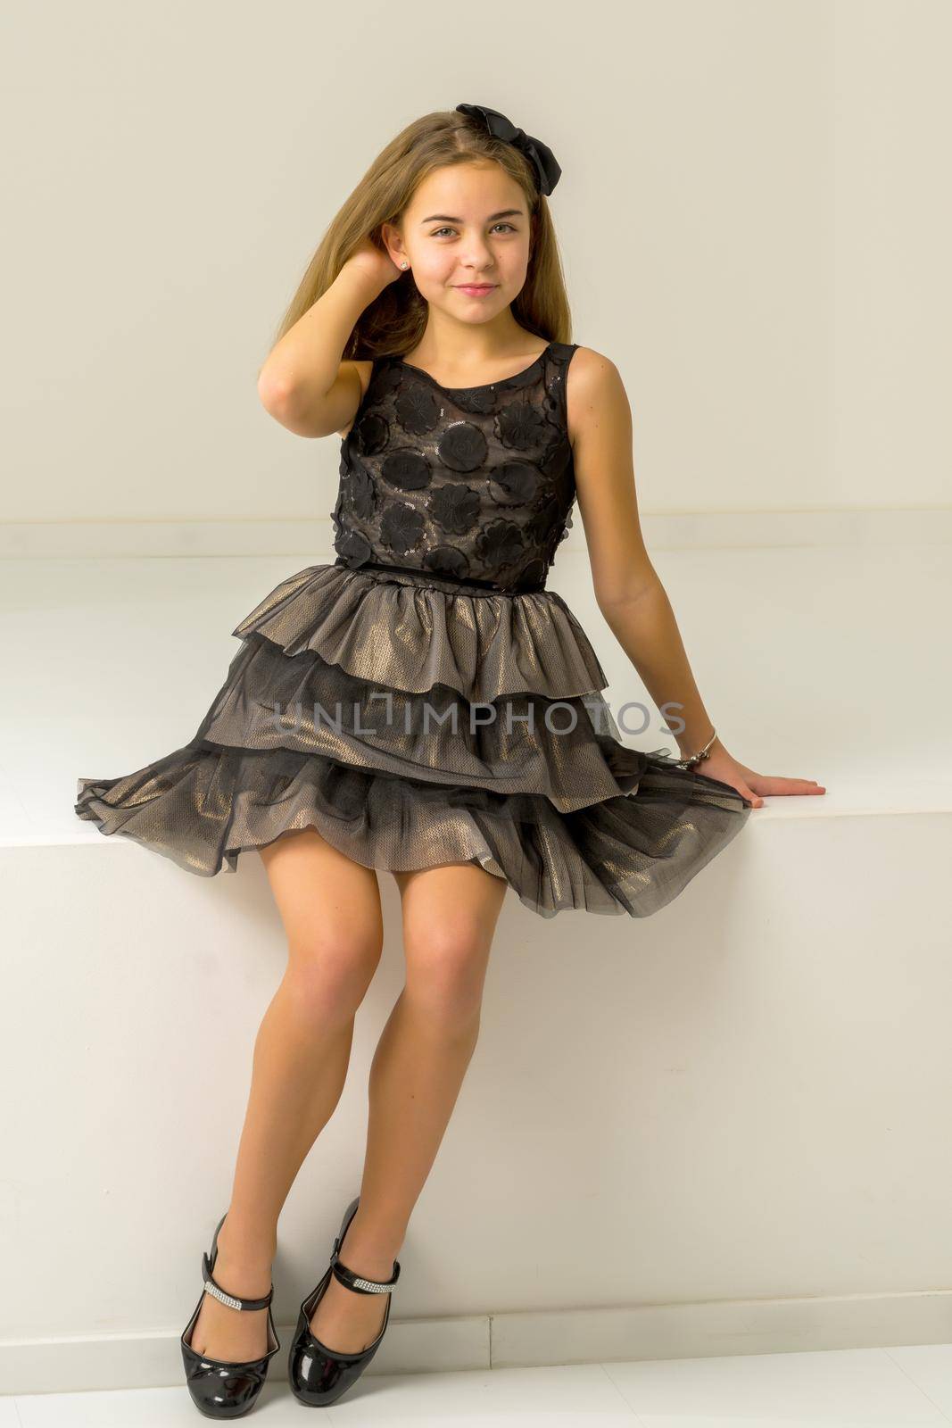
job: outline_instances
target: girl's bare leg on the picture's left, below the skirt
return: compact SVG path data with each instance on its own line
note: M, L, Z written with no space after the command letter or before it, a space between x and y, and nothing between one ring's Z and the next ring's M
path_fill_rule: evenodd
M278 1215L340 1100L354 1015L384 935L375 871L314 828L283 834L258 853L287 932L288 965L254 1044L251 1094L218 1235L214 1278L241 1298L268 1292ZM191 1347L224 1362L257 1358L267 1349L267 1309L238 1311L206 1295Z

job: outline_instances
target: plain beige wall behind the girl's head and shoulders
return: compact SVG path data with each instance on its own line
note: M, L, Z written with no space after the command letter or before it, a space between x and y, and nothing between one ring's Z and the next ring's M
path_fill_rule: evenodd
M645 514L949 498L945 0L21 7L7 21L7 521L327 517L255 376L337 207L461 100L551 144L575 341ZM81 553L77 534L77 553Z

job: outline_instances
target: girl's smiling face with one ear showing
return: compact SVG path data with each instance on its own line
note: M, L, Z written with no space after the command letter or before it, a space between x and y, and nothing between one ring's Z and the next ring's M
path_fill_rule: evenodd
M407 260L421 296L462 323L487 323L518 296L530 263L525 194L492 160L435 169L418 184L400 227L383 238ZM482 294L468 284L488 284Z

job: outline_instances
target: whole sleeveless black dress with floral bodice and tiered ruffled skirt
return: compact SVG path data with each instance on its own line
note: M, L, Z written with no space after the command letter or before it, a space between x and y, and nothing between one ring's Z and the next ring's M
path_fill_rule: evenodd
M190 743L80 778L76 814L206 877L313 827L365 867L474 863L541 917L677 897L752 805L621 743L598 657L545 588L575 501L575 350L467 388L374 361L341 443L337 558L234 628Z

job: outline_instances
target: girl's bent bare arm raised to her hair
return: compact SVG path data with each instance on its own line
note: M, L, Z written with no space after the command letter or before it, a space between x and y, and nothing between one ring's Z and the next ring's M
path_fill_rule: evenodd
M265 411L301 437L350 426L363 398L358 364L341 361L360 314L400 277L387 253L365 238L328 290L275 343L258 373Z

